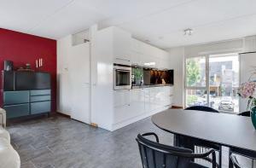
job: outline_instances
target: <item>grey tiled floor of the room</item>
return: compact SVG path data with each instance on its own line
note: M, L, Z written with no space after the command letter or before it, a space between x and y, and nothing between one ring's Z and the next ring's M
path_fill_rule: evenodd
M113 132L58 115L9 125L8 130L22 168L140 168L138 133L154 131L160 142L173 142L172 134L150 118Z

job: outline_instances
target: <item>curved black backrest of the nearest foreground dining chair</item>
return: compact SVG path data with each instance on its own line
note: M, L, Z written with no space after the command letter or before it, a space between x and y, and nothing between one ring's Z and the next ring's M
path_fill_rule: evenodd
M191 159L183 157L183 155L192 154L192 150L190 149L176 148L160 144L158 138L157 142L152 142L140 134L137 136L137 142L143 162L143 168L189 167Z

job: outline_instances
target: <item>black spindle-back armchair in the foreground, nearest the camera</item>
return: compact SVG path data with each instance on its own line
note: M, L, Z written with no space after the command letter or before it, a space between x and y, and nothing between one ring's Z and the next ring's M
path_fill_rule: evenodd
M154 136L155 142L145 138ZM137 143L141 155L143 168L206 168L193 162L193 159L201 159L212 156L212 168L216 168L216 156L213 149L204 154L193 154L187 148L171 147L159 142L158 136L153 132L137 135Z

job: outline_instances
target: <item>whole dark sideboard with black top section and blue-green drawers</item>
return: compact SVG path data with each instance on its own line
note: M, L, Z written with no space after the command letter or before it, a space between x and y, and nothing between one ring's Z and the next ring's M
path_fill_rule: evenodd
M7 119L51 112L48 72L3 71L1 78L3 109Z

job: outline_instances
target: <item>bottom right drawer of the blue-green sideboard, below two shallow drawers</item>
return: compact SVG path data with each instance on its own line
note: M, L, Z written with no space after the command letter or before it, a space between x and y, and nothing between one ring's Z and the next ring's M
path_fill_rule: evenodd
M31 114L35 113L49 113L50 101L40 101L31 103Z

